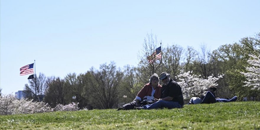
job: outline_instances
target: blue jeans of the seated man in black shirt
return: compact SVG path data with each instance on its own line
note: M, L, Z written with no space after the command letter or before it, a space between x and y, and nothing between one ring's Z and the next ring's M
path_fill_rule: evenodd
M144 109L157 109L157 108L182 108L181 104L173 101L159 100L155 103L144 105Z

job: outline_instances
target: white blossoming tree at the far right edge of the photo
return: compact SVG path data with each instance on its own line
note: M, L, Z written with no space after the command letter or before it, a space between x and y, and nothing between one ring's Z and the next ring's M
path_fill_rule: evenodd
M249 55L251 59L248 59L247 62L250 64L249 67L246 67L248 72L241 72L246 77L244 83L245 87L252 87L253 90L260 90L260 55L257 57L255 55Z

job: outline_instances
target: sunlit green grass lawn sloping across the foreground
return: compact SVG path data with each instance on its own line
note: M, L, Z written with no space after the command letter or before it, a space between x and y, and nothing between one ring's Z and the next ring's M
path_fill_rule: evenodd
M260 129L260 102L8 115L0 116L0 129Z

